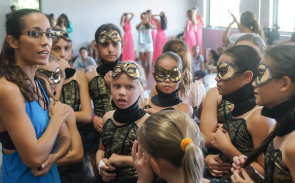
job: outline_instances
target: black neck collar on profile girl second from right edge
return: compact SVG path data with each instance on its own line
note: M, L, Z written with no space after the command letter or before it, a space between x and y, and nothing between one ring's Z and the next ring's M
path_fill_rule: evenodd
M252 83L243 86L231 94L222 96L222 99L234 103L233 117L241 116L256 106Z

